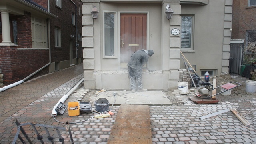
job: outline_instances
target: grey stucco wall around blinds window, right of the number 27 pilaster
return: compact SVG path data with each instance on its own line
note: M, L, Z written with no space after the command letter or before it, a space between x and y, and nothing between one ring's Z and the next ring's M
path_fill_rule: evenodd
M225 48L229 51L232 15L225 13L225 7L232 7L230 4L226 6L227 2L232 4L232 0L213 0L205 6L182 5L181 14L194 16L194 50L183 54L191 65L196 65L199 75L200 69L216 70L216 74L220 74L223 72L222 60L229 58ZM185 68L183 60L180 67Z

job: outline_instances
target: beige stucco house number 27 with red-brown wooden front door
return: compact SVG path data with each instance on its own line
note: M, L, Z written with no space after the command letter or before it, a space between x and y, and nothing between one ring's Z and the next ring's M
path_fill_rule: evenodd
M129 90L126 64L139 49L155 52L142 73L150 90L177 88L179 69L185 69L180 52L200 76L228 72L232 0L82 2L85 88ZM170 20L168 5L174 12ZM90 13L94 6L98 19Z

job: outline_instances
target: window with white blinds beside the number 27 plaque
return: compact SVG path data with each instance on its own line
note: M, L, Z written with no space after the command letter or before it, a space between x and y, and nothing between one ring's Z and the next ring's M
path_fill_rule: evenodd
M181 48L192 48L192 16L181 16Z

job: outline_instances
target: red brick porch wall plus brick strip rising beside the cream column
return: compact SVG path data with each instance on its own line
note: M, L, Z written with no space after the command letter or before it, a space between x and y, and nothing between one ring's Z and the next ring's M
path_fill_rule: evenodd
M17 29L18 46L0 46L0 68L4 74L4 85L22 80L49 63L49 50L18 50L18 48L32 48L29 12L17 16ZM48 69L44 68L31 78L47 73Z

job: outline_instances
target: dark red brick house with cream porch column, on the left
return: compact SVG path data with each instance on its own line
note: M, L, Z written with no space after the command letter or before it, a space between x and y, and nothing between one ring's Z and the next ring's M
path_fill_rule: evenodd
M0 0L4 84L82 62L80 0Z

